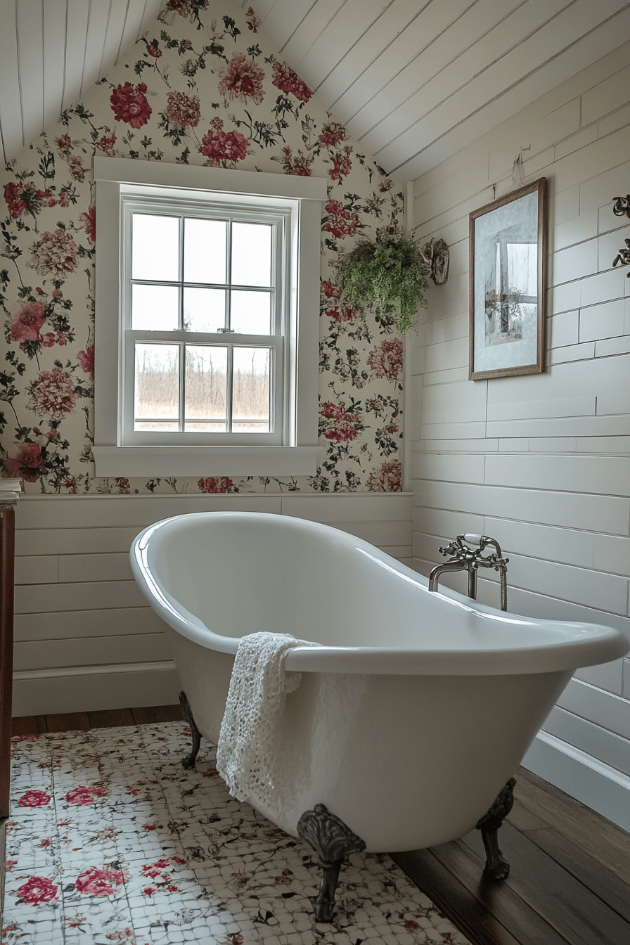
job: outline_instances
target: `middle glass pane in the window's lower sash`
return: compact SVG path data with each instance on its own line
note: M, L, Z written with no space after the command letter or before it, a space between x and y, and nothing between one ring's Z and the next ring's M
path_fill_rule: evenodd
M222 421L225 430L227 374L227 347L186 345L186 421Z

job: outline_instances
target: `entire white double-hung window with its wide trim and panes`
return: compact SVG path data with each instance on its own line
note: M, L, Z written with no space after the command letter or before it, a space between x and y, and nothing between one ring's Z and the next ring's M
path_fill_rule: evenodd
M97 475L315 472L325 181L95 160Z

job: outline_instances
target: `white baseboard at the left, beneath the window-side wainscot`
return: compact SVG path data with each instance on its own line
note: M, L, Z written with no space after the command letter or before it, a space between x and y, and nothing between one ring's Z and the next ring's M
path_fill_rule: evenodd
M172 661L26 670L13 675L13 715L53 715L175 705Z

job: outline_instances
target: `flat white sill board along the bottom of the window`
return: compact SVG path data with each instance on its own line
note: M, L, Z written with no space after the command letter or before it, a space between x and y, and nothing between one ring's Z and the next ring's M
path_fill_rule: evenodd
M94 446L96 475L315 475L316 446Z

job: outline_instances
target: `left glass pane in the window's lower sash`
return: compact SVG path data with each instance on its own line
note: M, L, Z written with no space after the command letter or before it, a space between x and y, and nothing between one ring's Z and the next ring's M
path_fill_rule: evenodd
M138 343L135 367L136 419L179 419L179 345Z

